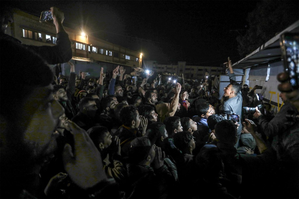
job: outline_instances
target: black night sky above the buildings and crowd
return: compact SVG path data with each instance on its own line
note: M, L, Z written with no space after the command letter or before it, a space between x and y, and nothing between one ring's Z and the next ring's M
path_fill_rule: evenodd
M144 60L220 66L228 56L233 62L243 58L237 52L236 37L248 28L246 17L259 1L1 1L4 3L36 16L56 6L64 12L64 26L82 28L88 35L142 52ZM296 4L298 11L298 1Z

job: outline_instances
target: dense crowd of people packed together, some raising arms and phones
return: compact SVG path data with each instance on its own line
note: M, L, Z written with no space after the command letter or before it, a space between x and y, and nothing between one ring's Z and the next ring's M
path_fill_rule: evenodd
M276 115L229 58L222 100L208 73L184 86L122 66L87 78L51 11L57 45L36 47L5 34L1 10L1 198L298 198L298 89L286 74Z

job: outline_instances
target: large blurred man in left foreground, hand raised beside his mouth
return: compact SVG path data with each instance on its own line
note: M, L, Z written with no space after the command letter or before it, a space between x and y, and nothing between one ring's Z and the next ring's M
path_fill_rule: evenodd
M1 95L6 96L0 98L1 198L35 198L37 178L29 176L38 177L40 166L52 154L53 132L64 109L52 95L53 73L36 53L1 38L1 65L10 66L1 68ZM18 78L11 82L7 74ZM87 195L97 195L109 183L100 154L82 128L71 121L66 126L75 145L63 148L65 171Z

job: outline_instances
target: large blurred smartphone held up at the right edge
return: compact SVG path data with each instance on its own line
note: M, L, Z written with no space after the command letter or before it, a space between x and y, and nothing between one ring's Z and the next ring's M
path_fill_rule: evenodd
M289 74L292 88L299 88L299 35L298 33L284 33L280 36L280 49L283 65Z

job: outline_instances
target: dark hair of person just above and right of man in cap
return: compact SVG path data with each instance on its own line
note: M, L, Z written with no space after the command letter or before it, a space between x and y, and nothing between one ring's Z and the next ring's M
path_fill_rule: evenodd
M161 142L157 142L157 139L160 140L159 137L164 136L164 129L165 125L161 122L151 123L148 126L146 137L150 140L152 144L156 144L157 146L161 147Z

